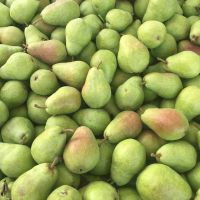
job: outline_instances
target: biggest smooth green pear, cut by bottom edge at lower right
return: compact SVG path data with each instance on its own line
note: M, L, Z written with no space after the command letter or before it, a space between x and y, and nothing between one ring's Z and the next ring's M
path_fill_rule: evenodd
M189 200L192 197L190 185L176 171L163 164L147 166L139 174L136 186L144 200Z

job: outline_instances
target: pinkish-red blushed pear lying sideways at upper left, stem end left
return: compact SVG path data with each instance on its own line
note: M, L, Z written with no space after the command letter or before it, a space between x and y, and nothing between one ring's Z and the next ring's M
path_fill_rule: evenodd
M34 42L28 45L27 52L47 64L55 64L66 59L65 45L58 40Z

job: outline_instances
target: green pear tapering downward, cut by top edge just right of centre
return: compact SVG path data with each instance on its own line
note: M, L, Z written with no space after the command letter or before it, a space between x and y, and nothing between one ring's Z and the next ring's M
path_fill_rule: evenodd
M92 0L92 6L95 12L105 18L107 12L115 7L116 0Z

